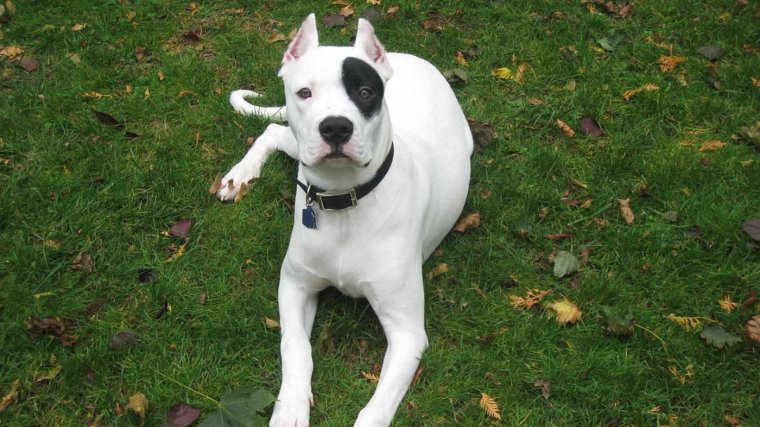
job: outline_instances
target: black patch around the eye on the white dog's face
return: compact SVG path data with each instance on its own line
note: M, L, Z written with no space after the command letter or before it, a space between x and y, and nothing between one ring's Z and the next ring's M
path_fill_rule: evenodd
M343 87L365 118L374 116L382 108L385 91L383 79L361 59L346 58L343 61Z

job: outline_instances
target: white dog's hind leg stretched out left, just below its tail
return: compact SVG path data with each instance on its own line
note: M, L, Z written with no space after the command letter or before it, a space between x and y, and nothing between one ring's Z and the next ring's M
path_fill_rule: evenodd
M235 198L242 184L261 176L261 167L275 151L283 151L288 156L298 160L298 144L295 136L287 126L271 124L246 153L243 160L227 172L221 180L221 186L216 197L222 201Z

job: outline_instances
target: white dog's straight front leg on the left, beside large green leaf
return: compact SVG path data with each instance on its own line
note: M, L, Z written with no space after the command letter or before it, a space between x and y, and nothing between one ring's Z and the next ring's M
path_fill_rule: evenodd
M309 425L313 404L309 336L317 311L317 290L296 283L285 270L283 266L278 290L282 384L269 426L303 427Z

